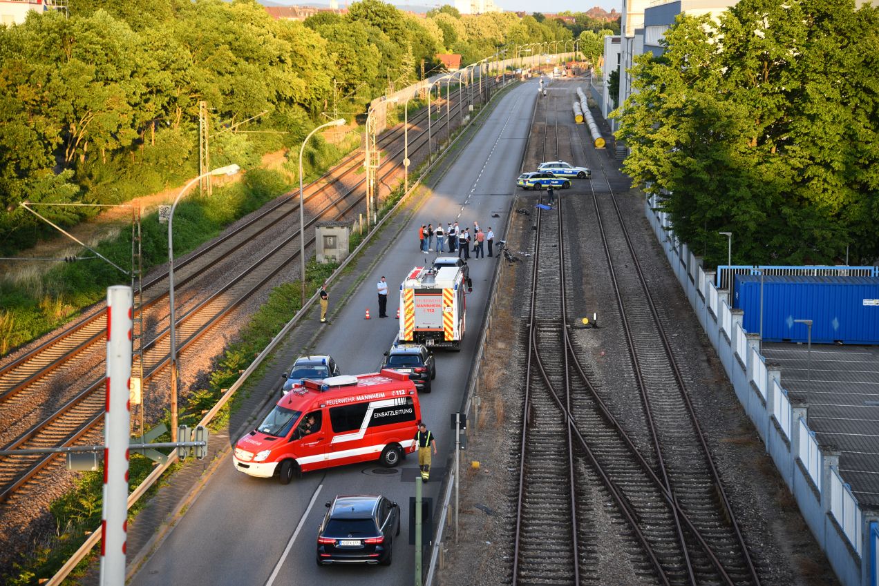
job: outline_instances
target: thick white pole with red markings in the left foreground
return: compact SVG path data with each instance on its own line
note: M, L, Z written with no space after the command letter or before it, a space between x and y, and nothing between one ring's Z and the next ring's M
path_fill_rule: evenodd
M107 387L104 418L104 511L101 516L101 584L125 583L128 515L128 436L131 419L131 335L134 295L129 286L107 288Z

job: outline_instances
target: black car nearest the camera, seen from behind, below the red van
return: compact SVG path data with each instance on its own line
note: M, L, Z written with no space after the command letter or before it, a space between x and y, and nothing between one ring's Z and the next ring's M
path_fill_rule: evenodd
M337 496L317 532L317 565L390 565L400 506L384 496Z

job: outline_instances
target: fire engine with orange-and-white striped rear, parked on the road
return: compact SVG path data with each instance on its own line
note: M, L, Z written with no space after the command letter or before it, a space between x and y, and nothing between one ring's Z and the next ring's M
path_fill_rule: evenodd
M417 266L400 286L401 343L461 350L467 326L466 265L457 258L438 258L433 266Z

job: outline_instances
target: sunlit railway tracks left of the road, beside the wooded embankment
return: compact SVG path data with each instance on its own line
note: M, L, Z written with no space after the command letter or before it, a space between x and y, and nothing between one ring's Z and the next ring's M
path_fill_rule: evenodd
M466 89L461 87L456 93L457 99L454 100L453 116L461 117L464 100L461 99L461 92ZM418 117L412 119L411 124L417 125L418 120L426 119L426 112L422 111ZM383 146L389 152L389 156L380 166L380 181L385 181L392 177L396 171L402 166L403 146L393 149L393 146L399 142L403 135L402 127L395 127L389 133L383 135ZM422 130L420 133L410 137L410 156L418 153L427 145L427 131ZM351 164L353 163L353 164ZM318 182L309 185L309 199L316 199L316 196L322 194L332 184L337 184L342 177L354 172L360 167L362 156L358 160L358 156L349 156L343 163L336 167L336 174L332 172L324 175ZM340 170L340 171L339 171ZM323 183L320 183L323 181ZM320 183L320 184L318 184ZM366 198L365 193L360 193L359 188L364 183L364 179L360 179L355 184L345 189L344 192L333 199L327 196L325 203L307 222L306 228L313 226L317 221L326 219L342 219L348 217L348 214L354 212ZM243 246L253 235L271 228L279 221L283 220L291 213L298 213L298 201L293 198L285 198L277 204L271 206L263 213L246 222L243 226L236 228L235 231L225 235L224 237L212 242L204 250L200 250L192 257L188 257L178 266L188 266L189 271L181 274L176 280L175 285L179 286L182 282L189 282L194 279L204 267L211 265L216 258L226 257L235 250ZM220 323L226 315L229 315L236 307L240 306L243 300L249 298L256 293L261 287L265 286L273 276L285 267L294 264L294 260L298 258L299 249L299 231L283 239L272 250L265 253L255 263L251 264L246 270L241 272L235 279L222 286L219 290L211 294L206 300L202 300L196 307L178 318L178 336L183 343L178 347L178 351L182 354L190 350L201 336L204 336L210 329ZM314 242L311 238L308 245ZM179 274L179 273L178 273ZM158 307L161 300L166 299L166 293L162 291L163 285L166 288L167 273L157 275L149 281L149 291L157 292L145 301L144 308ZM78 322L69 329L56 336L53 340L49 340L45 344L41 344L28 356L14 361L11 365L7 365L5 371L0 371L0 380L4 380L6 373L16 372L16 368L27 364L38 364L42 353L54 349L55 353L59 353L62 348L68 348L71 353L84 351L88 346L97 347L104 340L105 329L105 312L102 310L97 315L91 316L86 320ZM98 331L90 331L98 329ZM144 377L143 384L149 380L155 379L163 369L168 365L170 359L170 350L168 343L168 328L160 331L156 337L143 344L144 356ZM65 337L65 335L67 335ZM72 348L72 349L71 349ZM28 385L33 385L33 381L39 380L52 369L62 365L67 358L58 356L54 359L54 364L47 365L44 373L29 373L25 377L18 377L18 383L12 382L0 394L0 409L3 409L10 402L26 400L25 394L18 393L24 390ZM31 366L33 368L33 366ZM21 371L25 372L25 371ZM23 382L27 384L22 384ZM16 388L18 386L18 388ZM0 387L2 389L3 387ZM18 396L16 396L18 395ZM92 430L97 430L103 420L104 414L104 378L91 381L86 385L84 390L78 392L64 402L58 409L53 409L51 414L40 423L36 423L13 439L11 443L4 445L4 450L23 449L33 447L66 447L76 444L77 441L84 438ZM0 410L2 412L2 410ZM0 459L0 503L11 498L12 495L24 490L29 483L37 481L40 472L54 459L54 455L47 456L17 456L11 458Z

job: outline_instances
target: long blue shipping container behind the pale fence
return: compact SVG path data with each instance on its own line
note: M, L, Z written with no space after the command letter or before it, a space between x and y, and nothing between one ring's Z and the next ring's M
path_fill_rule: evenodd
M736 275L732 307L745 310L743 327L760 331L760 277ZM879 278L766 275L763 339L806 342L812 321L817 344L879 344Z

